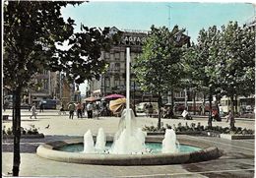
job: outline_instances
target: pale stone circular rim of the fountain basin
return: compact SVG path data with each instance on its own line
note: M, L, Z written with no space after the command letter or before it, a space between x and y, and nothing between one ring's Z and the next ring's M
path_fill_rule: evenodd
M161 143L163 137L147 137L146 143ZM113 137L106 137L107 142L112 142ZM219 148L189 139L179 139L180 145L200 148L191 152L178 153L148 153L148 154L106 154L83 153L58 150L71 145L83 144L83 139L57 141L40 145L36 149L37 155L51 160L100 165L163 165L180 164L206 161L222 155Z

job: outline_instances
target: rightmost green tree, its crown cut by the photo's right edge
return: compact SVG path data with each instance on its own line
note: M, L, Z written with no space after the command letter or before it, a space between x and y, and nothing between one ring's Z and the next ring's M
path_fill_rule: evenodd
M255 31L229 22L222 27L220 48L216 76L222 94L230 97L231 112L234 113L234 97L254 93Z

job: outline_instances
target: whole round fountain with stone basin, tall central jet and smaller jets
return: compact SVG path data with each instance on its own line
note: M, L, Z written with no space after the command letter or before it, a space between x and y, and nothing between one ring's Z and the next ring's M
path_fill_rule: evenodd
M189 138L179 138L180 147L176 141L173 130L166 130L162 136L147 137L141 128L136 127L133 110L130 109L130 48L126 50L126 109L122 112L119 127L114 137L105 136L103 129L99 128L96 139L89 130L84 135L84 143L80 139L51 142L40 145L36 153L52 160L102 164L102 165L159 165L190 163L218 158L222 152L211 145ZM96 142L96 146L95 146ZM107 142L111 142L107 148ZM69 152L61 148L84 144L84 150ZM148 143L160 144L160 152L154 153L147 148ZM183 145L192 146L189 152L180 152ZM106 149L107 148L107 149Z

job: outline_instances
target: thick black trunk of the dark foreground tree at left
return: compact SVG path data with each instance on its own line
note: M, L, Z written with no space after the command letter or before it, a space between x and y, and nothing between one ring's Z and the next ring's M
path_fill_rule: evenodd
M19 176L21 155L21 93L22 89L13 91L13 134L14 134L14 156L13 156L13 176Z

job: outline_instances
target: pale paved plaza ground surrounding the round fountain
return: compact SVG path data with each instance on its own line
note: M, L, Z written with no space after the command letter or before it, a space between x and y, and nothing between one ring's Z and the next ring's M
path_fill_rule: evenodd
M4 114L11 114L7 110ZM98 119L78 119L73 120L68 115L59 115L58 111L47 110L38 113L37 119L30 119L30 112L22 110L22 127L30 128L32 125L43 133L43 139L22 139L21 141L21 166L20 176L32 177L254 177L254 143L252 139L229 141L216 137L187 136L190 139L212 144L224 151L224 155L219 159L175 165L156 166L106 166L89 165L58 162L36 155L36 148L45 142L59 141L63 139L80 138L91 129L93 134L98 128L103 128L104 132L113 135L118 128L118 117L99 117ZM207 125L207 118L194 118L193 120L183 119L162 119L163 125L177 125L187 122ZM139 127L157 126L158 118L137 117ZM214 122L213 126L228 126L228 123ZM237 119L236 127L247 129L255 128L254 120ZM11 119L3 121L3 126L11 127ZM47 126L49 126L47 128ZM10 176L12 172L13 160L13 140L3 140L2 174Z

